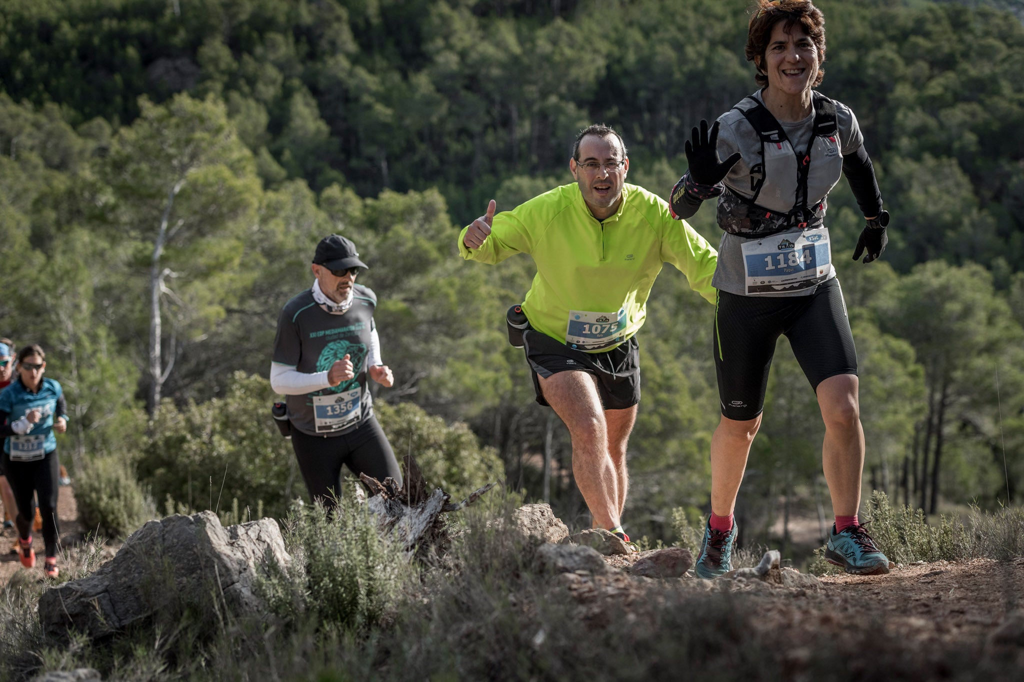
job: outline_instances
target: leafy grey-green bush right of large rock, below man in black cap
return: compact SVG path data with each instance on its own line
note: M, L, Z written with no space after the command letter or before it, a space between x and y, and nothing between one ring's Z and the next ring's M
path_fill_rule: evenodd
M366 504L349 497L330 513L319 503L296 505L285 528L292 563L267 566L259 589L287 622L373 628L415 576L403 549L379 534Z

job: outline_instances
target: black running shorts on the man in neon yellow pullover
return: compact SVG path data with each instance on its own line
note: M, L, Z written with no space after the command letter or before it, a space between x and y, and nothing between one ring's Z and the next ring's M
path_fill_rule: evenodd
M597 378L597 393L606 410L625 410L640 402L640 346L636 336L604 353L585 353L536 329L522 334L526 361L534 377L537 402L548 405L538 375L548 378L577 370Z

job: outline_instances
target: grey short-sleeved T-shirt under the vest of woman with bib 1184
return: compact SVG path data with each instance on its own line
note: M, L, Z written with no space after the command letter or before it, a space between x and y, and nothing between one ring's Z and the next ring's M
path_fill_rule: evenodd
M761 91L753 95L764 103ZM835 100L834 100L835 101ZM732 191L750 198L751 191L751 167L749 162L760 158L761 138L746 121L742 113L736 109L729 109L718 118L720 122L718 134L718 153L720 158L728 158L736 151L742 157L736 162L723 182ZM840 150L844 156L857 150L863 143L863 136L860 133L860 126L857 125L857 118L848 106L841 102L836 102L836 123L839 133ZM811 135L814 131L814 113L802 121L780 121L782 130L793 143L793 148L798 152L803 152L811 143ZM756 163L756 162L755 162ZM743 268L742 244L746 241L757 241L757 238L749 239L729 232L722 233L722 240L718 246L718 267L715 270L715 278L712 284L715 288L729 293L743 295L745 293L746 275ZM814 292L816 287L800 289L798 291L762 293L759 295L768 297L788 297L808 295Z

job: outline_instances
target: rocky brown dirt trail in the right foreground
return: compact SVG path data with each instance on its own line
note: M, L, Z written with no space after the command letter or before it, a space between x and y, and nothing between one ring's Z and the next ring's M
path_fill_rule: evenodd
M629 571L627 557L605 560ZM886 576L824 576L817 589L702 581L692 572L675 580L684 590L730 593L752 606L756 617L744 627L783 652L783 679L816 679L820 671L813 666L821 656L815 647L821 646L837 653L836 665L852 671L852 679L1024 679L1024 557L900 564ZM641 619L648 607L650 584L628 573L577 572L561 581L595 624L607 620L612 603ZM892 678L879 677L887 670ZM972 671L967 678L965 670Z

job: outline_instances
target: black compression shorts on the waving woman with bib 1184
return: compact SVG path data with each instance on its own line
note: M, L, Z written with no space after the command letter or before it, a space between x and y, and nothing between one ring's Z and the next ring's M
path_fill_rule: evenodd
M785 334L815 391L830 376L857 373L857 351L838 279L801 297L718 292L715 369L722 414L754 419L764 409L775 342Z

